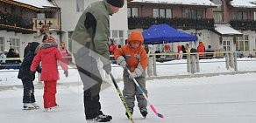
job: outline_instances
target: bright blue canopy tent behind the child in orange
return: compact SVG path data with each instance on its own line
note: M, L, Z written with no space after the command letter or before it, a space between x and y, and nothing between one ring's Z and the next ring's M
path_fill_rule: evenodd
M173 42L196 41L196 36L178 31L168 24L152 25L142 32L144 44L162 44Z

